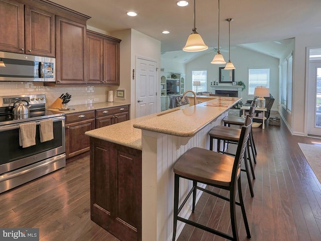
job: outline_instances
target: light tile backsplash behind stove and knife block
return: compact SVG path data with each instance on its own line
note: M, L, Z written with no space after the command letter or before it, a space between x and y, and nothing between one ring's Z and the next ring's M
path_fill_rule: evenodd
M106 102L109 89L107 86L49 87L42 82L0 82L0 96L46 94L47 108L66 92L72 95L69 105Z

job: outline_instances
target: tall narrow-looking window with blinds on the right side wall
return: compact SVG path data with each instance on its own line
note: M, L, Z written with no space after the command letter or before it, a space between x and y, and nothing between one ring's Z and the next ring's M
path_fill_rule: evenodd
M292 53L281 64L281 104L282 107L292 111Z

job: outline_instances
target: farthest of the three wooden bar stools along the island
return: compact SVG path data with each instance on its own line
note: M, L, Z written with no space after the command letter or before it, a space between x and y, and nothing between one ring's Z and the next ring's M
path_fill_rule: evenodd
M253 116L255 114L255 107L256 107L256 105L255 105L255 102L253 101L251 104L249 113L248 113L251 116L252 121L253 121ZM245 123L245 117L228 115L223 118L223 122L224 122L224 126L228 126L228 127L231 127L231 125L243 126ZM252 151L253 161L256 164L257 152L256 152L256 147L255 147L255 143L254 143L254 139L253 139L252 128L251 128L251 134L250 134L249 141L250 141L250 147L251 147L251 151Z

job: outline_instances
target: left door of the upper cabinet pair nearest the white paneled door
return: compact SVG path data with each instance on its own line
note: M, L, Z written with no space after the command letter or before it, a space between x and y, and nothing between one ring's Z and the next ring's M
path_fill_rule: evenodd
M88 78L87 84L103 84L103 40L87 35Z

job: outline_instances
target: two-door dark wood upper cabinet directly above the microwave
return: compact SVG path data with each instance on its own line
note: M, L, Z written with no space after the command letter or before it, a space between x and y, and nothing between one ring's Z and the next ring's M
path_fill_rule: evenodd
M0 0L0 16L0 50L55 57L54 14Z

